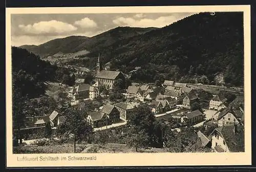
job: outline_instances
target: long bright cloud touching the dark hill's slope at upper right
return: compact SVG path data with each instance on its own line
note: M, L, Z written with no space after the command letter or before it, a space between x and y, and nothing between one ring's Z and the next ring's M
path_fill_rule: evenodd
M147 28L147 27L162 28L166 25L172 24L173 22L178 21L187 16L189 15L169 15L169 16L161 16L156 19L150 19L150 18L134 19L131 17L127 17L127 18L119 17L114 19L113 23L119 26L130 26L130 27L140 27L140 28Z

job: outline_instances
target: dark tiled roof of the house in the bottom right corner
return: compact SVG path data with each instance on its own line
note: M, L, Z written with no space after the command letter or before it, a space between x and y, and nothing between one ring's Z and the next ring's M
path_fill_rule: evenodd
M244 126L222 126L219 131L230 152L244 152Z

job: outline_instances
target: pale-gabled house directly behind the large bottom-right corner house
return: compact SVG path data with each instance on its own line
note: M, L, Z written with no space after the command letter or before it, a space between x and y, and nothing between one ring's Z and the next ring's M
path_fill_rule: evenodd
M239 124L240 120L234 113L232 107L223 109L218 114L218 126L234 125Z

